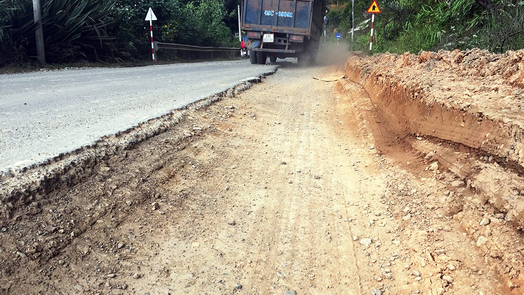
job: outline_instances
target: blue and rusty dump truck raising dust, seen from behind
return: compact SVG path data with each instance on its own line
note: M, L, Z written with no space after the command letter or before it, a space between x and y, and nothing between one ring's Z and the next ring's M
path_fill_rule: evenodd
M325 0L243 0L241 29L251 64L296 57L313 64L322 36Z

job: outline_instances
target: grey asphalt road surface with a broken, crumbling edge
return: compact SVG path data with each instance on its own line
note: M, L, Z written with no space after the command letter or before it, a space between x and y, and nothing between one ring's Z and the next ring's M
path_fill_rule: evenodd
M90 145L276 67L239 60L0 75L0 172Z

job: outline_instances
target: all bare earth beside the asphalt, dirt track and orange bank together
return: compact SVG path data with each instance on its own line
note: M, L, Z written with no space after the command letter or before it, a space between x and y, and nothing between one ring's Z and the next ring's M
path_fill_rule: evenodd
M3 175L0 294L522 294L523 55L283 62Z

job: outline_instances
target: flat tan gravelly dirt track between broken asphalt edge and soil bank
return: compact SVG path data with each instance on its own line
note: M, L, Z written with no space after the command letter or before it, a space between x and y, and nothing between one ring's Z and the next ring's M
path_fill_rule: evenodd
M521 294L516 223L357 73L284 64L4 199L0 293Z

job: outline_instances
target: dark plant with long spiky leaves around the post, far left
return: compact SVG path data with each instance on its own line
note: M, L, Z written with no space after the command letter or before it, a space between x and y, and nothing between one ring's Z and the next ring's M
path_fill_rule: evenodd
M5 43L8 48L0 48L2 56L15 55L11 60L19 61L36 56L32 2L17 1L14 6L14 1L0 0L0 11L2 3L7 7L4 15L5 11L12 12L5 17L9 25L2 26L0 33L4 39L10 40L10 43ZM132 49L133 45L126 40L125 32L119 31L123 17L115 13L117 10L113 5L113 0L43 1L41 14L46 59L49 62L115 61L128 55L125 45L127 49Z

